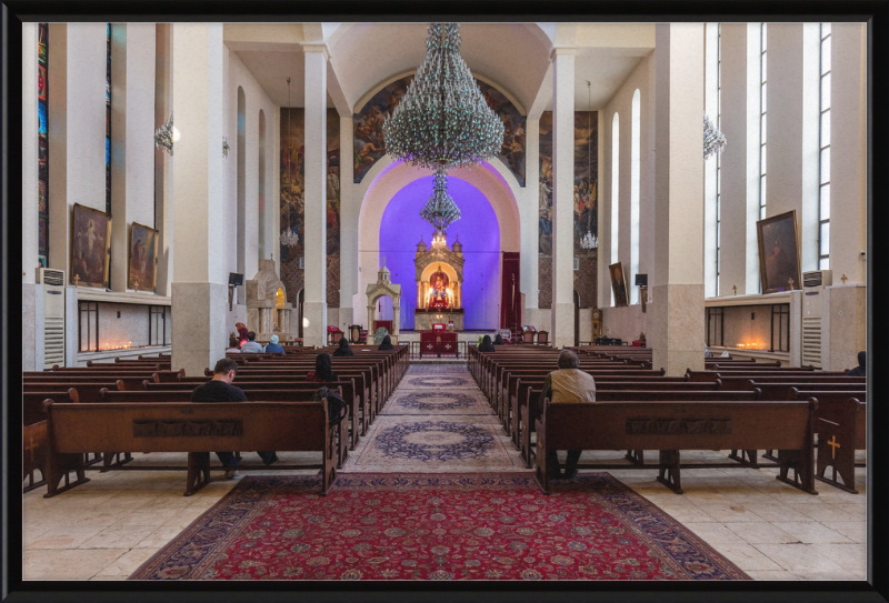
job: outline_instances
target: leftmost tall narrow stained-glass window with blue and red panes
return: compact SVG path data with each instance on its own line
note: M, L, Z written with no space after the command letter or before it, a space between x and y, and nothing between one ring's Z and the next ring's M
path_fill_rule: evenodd
M37 28L37 253L40 265L49 260L49 23Z

